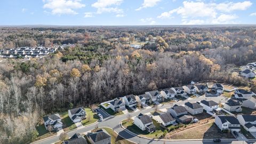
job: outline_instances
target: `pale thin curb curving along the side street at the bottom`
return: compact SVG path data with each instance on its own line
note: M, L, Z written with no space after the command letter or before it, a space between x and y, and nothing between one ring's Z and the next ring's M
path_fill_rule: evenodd
M139 138L145 138L145 139L148 139L148 140L157 140L157 141L204 141L204 140L211 140L212 141L213 140L213 139L175 139L175 140L170 140L170 139L148 138L148 137L144 137L144 136L142 136L140 134L135 134L135 133L125 129L125 127L122 125L121 122L119 123L119 125L121 126L122 129L124 129L124 131L134 135L135 137L138 137L138 135L139 135ZM234 140L234 141L237 141L237 139L221 139L221 140Z

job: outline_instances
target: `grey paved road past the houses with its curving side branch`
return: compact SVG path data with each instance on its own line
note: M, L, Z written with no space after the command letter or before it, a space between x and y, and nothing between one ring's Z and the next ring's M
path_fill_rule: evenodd
M225 102L228 100L228 98L225 97L199 97L199 98L195 98L195 99L190 99L190 102L196 102L196 101L201 101L203 99L206 100L214 100L215 102ZM177 105L183 105L185 102L187 102L188 100L184 100L184 101L178 101L175 102L175 104ZM164 106L159 106L159 109L164 109L164 108L170 108L174 105L174 103L171 104L167 104ZM143 109L143 110L139 110L137 112L134 113L130 113L130 115L133 116L138 116L140 113L145 114L145 113L149 113L151 111L153 111L154 108L149 108L149 109ZM161 140L154 140L154 139L145 139L145 138L139 138L137 135L132 135L128 132L126 132L124 129L122 129L119 126L119 122L123 121L124 119L127 118L127 115L123 115L123 116L119 116L119 117L107 117L105 119L103 119L102 122L98 123L98 124L93 124L90 126L86 126L83 127L82 129L77 129L71 132L68 132L68 136L71 137L72 135L74 135L75 133L84 133L84 132L88 132L91 131L93 129L95 129L95 126L98 125L99 127L111 127L114 131L116 131L119 135L121 135L121 137L133 141L135 143L164 143ZM35 143L54 143L59 141L59 136L53 137L53 138L49 138L43 141L39 141L39 142L35 142ZM230 141L223 141L223 143L231 143ZM165 141L165 143L178 143L178 141ZM179 143L188 143L188 144L193 144L193 143L213 143L212 141L179 141ZM222 143L222 142L221 142Z

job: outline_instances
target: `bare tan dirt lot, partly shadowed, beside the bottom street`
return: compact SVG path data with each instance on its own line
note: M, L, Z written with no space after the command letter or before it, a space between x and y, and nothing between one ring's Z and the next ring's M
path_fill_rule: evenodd
M234 138L231 133L222 133L214 124L214 119L209 123L198 125L174 134L167 134L166 139L213 139L213 138Z

